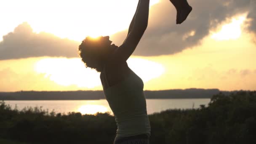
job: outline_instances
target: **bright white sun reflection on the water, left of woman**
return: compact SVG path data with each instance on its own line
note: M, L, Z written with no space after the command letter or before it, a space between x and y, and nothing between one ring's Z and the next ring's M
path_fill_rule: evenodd
M79 109L77 109L78 112L80 112L82 115L88 114L93 115L97 112L105 113L107 112L107 107L104 107L102 105L95 105L95 104L87 104L82 105Z

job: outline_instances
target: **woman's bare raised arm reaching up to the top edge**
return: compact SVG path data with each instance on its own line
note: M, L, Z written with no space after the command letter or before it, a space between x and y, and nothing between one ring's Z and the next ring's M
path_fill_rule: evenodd
M131 27L125 41L114 51L112 56L113 62L125 62L133 53L136 46L139 44L141 37L147 29L149 19L149 0L140 0L134 24Z

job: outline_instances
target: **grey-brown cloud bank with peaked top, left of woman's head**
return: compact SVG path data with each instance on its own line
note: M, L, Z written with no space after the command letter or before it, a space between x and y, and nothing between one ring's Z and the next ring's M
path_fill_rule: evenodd
M27 23L20 24L0 42L0 60L37 56L77 56L77 42L48 33L34 33Z

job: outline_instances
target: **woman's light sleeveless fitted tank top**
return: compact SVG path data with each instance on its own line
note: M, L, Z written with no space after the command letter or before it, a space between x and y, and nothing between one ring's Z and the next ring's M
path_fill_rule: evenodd
M105 75L105 79L106 79ZM116 137L150 136L144 83L133 71L122 82L104 89L117 123Z

